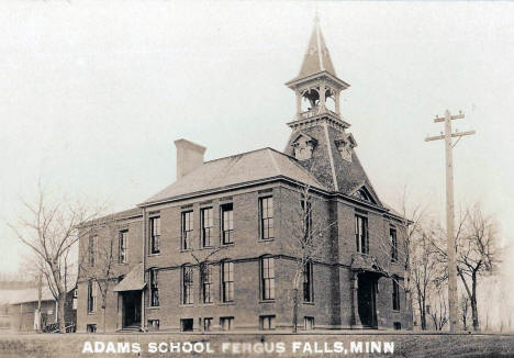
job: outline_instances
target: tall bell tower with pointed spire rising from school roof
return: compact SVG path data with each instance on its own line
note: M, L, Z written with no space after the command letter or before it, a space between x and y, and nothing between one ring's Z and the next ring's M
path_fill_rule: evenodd
M340 115L339 94L349 85L336 76L317 16L300 74L286 86L297 96L297 114L288 123L292 133L284 153L328 190L354 197L365 191L380 204L355 153L350 124Z

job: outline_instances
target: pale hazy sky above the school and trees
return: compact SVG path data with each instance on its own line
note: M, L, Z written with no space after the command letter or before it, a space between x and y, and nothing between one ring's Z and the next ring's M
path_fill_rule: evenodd
M7 223L55 195L133 208L176 178L174 141L205 159L282 150L317 9L342 113L379 197L444 217L445 110L455 201L480 201L514 243L514 3L4 1L0 3L0 271L25 248ZM514 264L504 265L514 273ZM511 265L511 266L510 266Z

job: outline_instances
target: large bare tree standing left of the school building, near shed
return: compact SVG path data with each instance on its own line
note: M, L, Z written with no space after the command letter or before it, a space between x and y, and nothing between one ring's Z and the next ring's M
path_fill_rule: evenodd
M77 226L94 217L96 212L80 203L49 199L41 183L37 189L34 203L23 202L27 217L20 217L9 226L44 262L42 272L58 302L59 332L63 333L66 293L71 288L69 254L78 240Z

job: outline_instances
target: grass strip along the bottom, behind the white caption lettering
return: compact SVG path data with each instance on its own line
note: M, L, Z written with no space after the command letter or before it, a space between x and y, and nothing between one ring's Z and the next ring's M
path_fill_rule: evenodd
M170 343L175 347L180 344L181 351L170 353ZM392 347L394 353L386 351ZM91 353L96 348L99 353ZM158 351L159 348L163 353ZM152 353L153 349L157 353ZM373 353L371 349L375 349ZM155 333L0 336L2 358L189 357L191 355L195 357L514 357L514 335L351 332L298 335Z

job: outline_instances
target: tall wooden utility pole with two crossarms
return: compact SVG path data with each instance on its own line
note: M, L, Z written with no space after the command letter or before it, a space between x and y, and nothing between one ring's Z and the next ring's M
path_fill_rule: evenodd
M446 235L448 239L448 306L449 306L449 324L450 333L457 331L457 261L455 251L455 209L454 209L454 157L452 149L465 135L474 134L474 131L455 132L451 133L451 121L463 119L465 115L459 111L459 114L451 115L448 110L444 118L438 115L434 119L434 123L445 122L445 133L433 137L426 137L425 142L445 139L446 152ZM457 137L452 143L451 138Z

